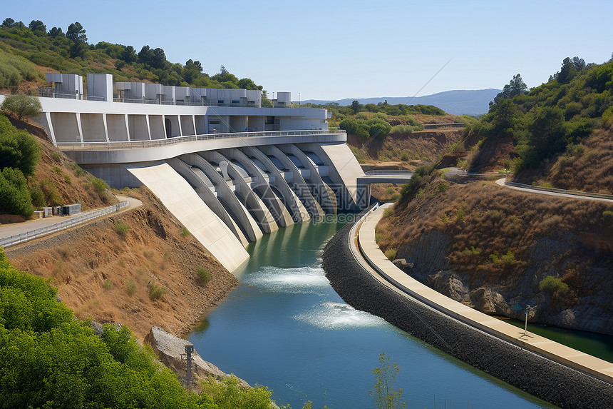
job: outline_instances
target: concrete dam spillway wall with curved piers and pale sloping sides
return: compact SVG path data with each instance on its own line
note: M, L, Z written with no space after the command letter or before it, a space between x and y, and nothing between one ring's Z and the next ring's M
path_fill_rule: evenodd
M366 206L344 142L280 143L84 166L115 186L145 185L229 271L265 233ZM128 181L128 183L126 183Z

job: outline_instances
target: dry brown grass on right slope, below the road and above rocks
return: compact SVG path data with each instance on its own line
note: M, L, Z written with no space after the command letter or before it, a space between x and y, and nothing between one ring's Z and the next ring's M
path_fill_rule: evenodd
M382 219L378 244L383 252L398 249L401 256L421 235L442 231L451 236L447 256L452 267L472 283L512 285L531 265L527 249L537 238L557 239L571 232L585 238L588 248L613 243L613 218L605 213L613 206L607 203L522 193L490 181L445 183L450 186L441 191L441 181L431 177L418 197L404 207L396 205L391 216ZM563 263L565 282L592 263L583 255L565 255L566 260L574 256L577 263ZM550 263L562 265L562 260Z

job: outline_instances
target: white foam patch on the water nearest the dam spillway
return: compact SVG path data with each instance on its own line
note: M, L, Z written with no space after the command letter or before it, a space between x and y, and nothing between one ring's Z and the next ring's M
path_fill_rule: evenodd
M316 293L329 286L321 267L279 268L264 267L245 278L244 283L279 293Z

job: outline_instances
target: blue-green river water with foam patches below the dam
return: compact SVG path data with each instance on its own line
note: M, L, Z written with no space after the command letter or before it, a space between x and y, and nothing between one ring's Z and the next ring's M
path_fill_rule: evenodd
M371 371L382 352L401 366L406 408L555 408L441 353L386 321L354 310L321 268L321 246L340 223L304 223L265 235L241 283L190 341L205 360L278 404L374 408Z

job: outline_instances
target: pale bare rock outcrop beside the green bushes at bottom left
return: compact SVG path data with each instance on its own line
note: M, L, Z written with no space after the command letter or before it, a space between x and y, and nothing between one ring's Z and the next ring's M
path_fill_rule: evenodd
M153 352L158 355L158 358L164 365L185 382L187 362L181 355L185 356L185 345L192 345L192 343L172 335L160 327L151 328L147 336L145 336L145 343L150 345ZM203 360L200 354L194 351L192 353L192 388L197 388L200 380L209 376L217 379L230 377L230 375L217 368L217 366ZM249 388L249 384L242 379L239 379L239 385Z

